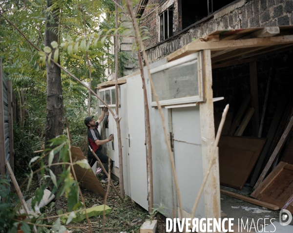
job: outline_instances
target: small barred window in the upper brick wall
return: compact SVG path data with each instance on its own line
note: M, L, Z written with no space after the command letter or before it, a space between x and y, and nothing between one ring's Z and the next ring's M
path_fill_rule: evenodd
M173 35L173 6L160 15L160 41Z

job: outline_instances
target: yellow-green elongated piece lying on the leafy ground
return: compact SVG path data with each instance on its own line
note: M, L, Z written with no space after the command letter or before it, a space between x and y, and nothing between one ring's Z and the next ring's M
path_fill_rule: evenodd
M94 206L94 207L86 209L86 213L88 217L103 215L103 212L104 212L104 205ZM110 212L111 212L111 208L106 205L105 215L109 214ZM64 215L61 217L61 221L65 223L67 218L68 216ZM85 212L83 211L81 213L76 213L76 216L72 219L72 221L80 222L80 221L83 221L85 218L86 218Z

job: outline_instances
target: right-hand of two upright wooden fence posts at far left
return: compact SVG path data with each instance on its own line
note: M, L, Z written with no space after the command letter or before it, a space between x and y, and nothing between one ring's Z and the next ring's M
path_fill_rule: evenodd
M13 148L13 106L12 106L12 83L7 81L8 88L8 125L9 125L9 161L12 171L14 173L14 148Z

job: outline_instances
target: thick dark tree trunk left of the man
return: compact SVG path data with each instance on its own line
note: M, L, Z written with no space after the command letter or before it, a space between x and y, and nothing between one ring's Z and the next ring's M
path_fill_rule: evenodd
M50 7L52 0L47 0L47 8ZM53 9L52 12L56 12ZM54 15L54 13L53 13ZM53 19L47 17L45 29L45 46L51 47L51 42L58 42L58 15L54 15ZM58 60L60 64L60 60ZM47 117L45 128L45 148L48 148L48 141L63 134L63 95L61 84L61 69L51 63L46 62L47 70ZM58 154L55 155L53 163L58 161ZM62 166L52 166L50 168L56 177L62 173Z

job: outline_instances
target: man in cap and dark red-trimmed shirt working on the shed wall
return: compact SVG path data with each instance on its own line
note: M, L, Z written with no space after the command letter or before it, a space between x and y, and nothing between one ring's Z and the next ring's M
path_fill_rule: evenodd
M107 107L103 108L102 114L99 116L98 120L95 122L94 117L86 117L84 119L84 124L87 126L87 138L88 145L93 149L95 154L99 157L101 162L105 164L105 170L108 172L108 156L102 153L102 145L113 140L113 135L110 135L108 139L102 140L101 135L98 131L99 124L103 121L105 112L108 110ZM92 167L97 161L96 157L92 154L91 150L87 151L87 160L89 165ZM113 161L110 159L111 169L113 168ZM107 183L108 179L106 174L102 177L102 182Z

